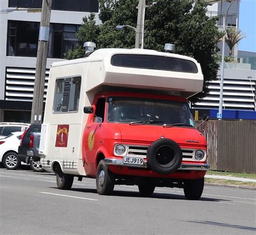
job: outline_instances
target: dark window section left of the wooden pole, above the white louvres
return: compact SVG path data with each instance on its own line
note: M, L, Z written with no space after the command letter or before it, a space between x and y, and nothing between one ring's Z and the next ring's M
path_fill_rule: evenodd
M36 57L38 22L8 21L7 56Z

